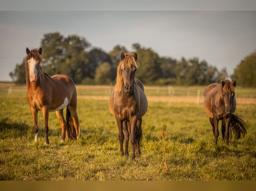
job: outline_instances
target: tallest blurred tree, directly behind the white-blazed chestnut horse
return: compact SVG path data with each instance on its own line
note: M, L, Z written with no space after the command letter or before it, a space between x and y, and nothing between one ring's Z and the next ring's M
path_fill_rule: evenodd
M48 75L66 74L80 84L87 74L85 50L90 46L85 38L59 33L45 34L41 41L43 69Z

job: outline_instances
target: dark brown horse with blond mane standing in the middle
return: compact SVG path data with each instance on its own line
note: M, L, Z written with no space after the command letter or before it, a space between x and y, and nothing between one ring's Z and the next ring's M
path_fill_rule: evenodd
M128 156L129 139L132 148L132 159L140 155L142 140L142 116L148 108L147 97L144 94L143 84L135 78L139 67L137 54L122 53L117 67L116 85L109 98L109 110L116 118L120 154ZM124 131L124 132L123 132ZM125 139L125 153L123 141Z

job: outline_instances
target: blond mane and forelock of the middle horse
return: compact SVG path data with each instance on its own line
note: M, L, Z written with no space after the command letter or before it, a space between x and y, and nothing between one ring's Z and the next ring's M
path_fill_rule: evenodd
M139 68L139 61L135 60L134 54L132 53L124 53L124 59L120 59L120 62L117 66L117 77L116 77L116 85L115 89L118 92L121 92L123 87L123 79L122 79L122 70L127 70L128 68Z

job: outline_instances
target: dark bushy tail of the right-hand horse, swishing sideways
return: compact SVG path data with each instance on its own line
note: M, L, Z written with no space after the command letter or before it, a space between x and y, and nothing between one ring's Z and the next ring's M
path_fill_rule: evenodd
M240 139L241 135L245 137L245 134L247 133L246 124L245 124L245 121L239 115L236 115L236 114L232 115L231 121L230 121L230 127L236 139ZM232 138L233 133L231 133L230 139Z

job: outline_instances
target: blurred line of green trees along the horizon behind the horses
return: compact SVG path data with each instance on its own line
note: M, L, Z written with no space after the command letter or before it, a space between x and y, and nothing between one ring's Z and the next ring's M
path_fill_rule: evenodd
M91 48L91 44L83 37L70 35L64 37L58 32L44 34L41 40L42 68L49 76L55 74L66 74L76 84L84 85L109 85L115 84L116 69L122 52L129 52L125 47L116 45L109 53L100 48ZM150 48L141 47L140 44L132 45L133 52L138 55L140 67L136 72L136 78L145 85L208 85L218 83L228 77L226 68L221 71L199 58L159 57ZM25 49L24 49L25 50ZM24 51L25 52L25 51ZM235 69L233 78L238 81L251 71L254 73L247 79L255 79L256 53L249 56L250 59L241 61ZM246 62L246 63L245 63ZM246 68L246 70L244 69ZM243 72L241 72L243 71ZM15 69L9 76L16 83L25 83L24 61L16 64ZM256 86L256 80L241 80L240 85Z

